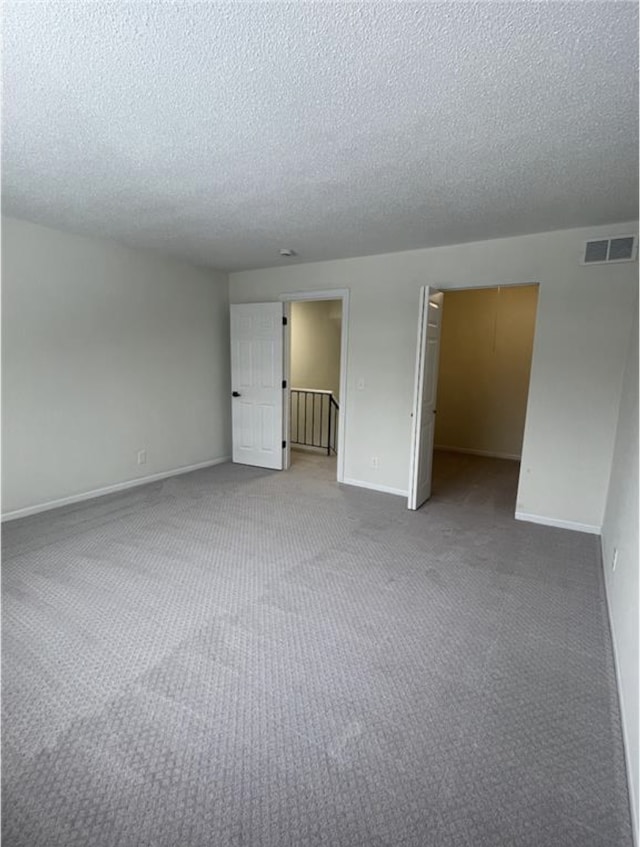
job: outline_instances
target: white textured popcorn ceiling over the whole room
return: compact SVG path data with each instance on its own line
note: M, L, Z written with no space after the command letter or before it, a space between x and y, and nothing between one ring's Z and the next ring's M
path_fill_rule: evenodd
M637 216L635 3L14 0L3 19L15 217L240 269Z

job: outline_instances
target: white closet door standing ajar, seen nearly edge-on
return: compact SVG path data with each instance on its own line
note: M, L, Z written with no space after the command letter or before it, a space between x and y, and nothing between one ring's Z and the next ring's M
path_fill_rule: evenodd
M410 509L419 509L431 497L433 437L436 428L440 322L444 296L424 286L420 289L418 350L411 430L409 472Z

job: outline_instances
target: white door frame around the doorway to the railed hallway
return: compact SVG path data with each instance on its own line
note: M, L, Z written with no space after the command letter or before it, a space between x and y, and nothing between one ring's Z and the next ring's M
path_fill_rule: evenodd
M291 387L291 303L304 300L342 300L342 318L340 327L340 425L338 427L337 444L337 480L344 482L344 467L346 459L346 431L347 431L347 366L349 361L349 298L351 291L348 288L330 288L322 291L295 291L281 294L279 299L284 303L284 315L287 319L288 330L284 334L284 378L287 387L283 391L283 435L282 440L287 442L284 455L284 470L291 466L291 445L289 443L289 414L290 414L290 387Z

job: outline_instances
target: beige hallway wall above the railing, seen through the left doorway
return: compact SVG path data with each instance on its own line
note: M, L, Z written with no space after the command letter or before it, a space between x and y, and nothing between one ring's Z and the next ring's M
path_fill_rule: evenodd
M291 304L291 386L340 395L341 300Z

